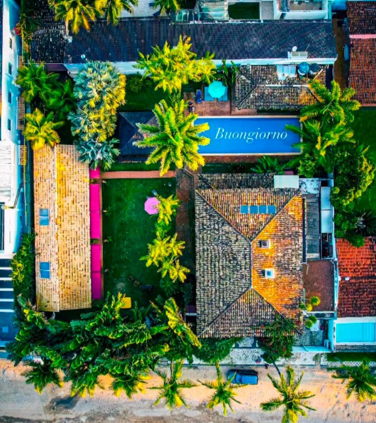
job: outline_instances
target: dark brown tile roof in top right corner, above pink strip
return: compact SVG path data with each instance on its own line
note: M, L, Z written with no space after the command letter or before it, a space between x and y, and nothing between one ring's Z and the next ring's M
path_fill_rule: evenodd
M376 34L376 2L348 1L347 17L351 35Z

